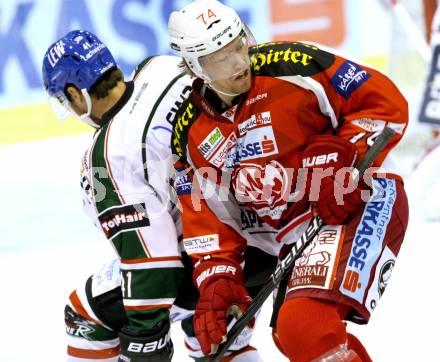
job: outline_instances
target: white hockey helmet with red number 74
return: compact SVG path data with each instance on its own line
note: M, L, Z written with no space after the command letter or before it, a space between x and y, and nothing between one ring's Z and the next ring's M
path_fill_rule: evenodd
M208 82L215 79L204 71L203 57L224 48L239 36L247 46L255 45L252 34L236 11L217 0L195 0L182 10L173 11L168 32L171 48L196 76ZM225 78L231 75L225 75Z

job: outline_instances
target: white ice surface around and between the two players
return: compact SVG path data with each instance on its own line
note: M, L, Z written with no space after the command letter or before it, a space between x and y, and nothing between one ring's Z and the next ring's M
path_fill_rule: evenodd
M84 134L0 147L2 362L65 361L67 297L114 257L82 212L78 171L90 139ZM440 149L407 179L410 225L391 282L370 324L348 326L375 362L440 361L439 164ZM266 303L252 345L265 360L284 361L269 318ZM189 360L178 325L173 341L174 360Z

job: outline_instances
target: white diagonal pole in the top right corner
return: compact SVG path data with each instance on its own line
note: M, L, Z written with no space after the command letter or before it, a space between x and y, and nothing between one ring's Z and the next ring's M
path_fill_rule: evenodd
M386 7L391 5L394 15L402 28L411 38L417 51L422 56L423 60L426 63L429 63L432 56L431 48L411 15L409 15L408 10L398 0L382 0L381 2Z

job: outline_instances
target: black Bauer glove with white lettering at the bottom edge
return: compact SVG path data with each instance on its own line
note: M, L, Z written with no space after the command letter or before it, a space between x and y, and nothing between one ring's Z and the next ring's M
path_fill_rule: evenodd
M170 336L170 321L162 321L151 334L137 336L128 328L119 332L121 352L118 362L168 362L173 356L173 342Z

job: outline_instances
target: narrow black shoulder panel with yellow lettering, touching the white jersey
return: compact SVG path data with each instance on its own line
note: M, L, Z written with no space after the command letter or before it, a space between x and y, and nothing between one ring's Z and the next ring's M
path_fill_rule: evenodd
M191 94L179 108L173 120L173 134L171 136L171 150L173 155L180 159L186 159L186 145L188 143L188 133L200 111L192 101Z

